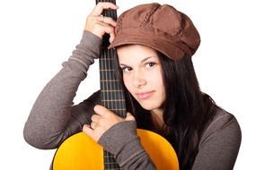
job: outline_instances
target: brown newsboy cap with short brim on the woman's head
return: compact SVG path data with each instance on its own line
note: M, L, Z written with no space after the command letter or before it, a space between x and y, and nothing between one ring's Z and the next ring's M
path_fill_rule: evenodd
M200 44L198 30L190 18L168 4L141 4L122 13L110 44L152 47L172 60L193 55Z

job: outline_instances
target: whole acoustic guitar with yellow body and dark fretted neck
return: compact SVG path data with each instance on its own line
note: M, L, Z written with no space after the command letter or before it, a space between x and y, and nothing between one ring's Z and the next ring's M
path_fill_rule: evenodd
M96 0L99 2L111 2L115 0ZM104 10L104 16L117 20L115 10ZM102 106L121 117L126 117L126 103L122 87L116 75L114 64L116 51L108 49L109 36L103 37L102 55L100 62L101 98ZM179 162L172 145L162 136L137 129L137 135L147 154L153 160L156 169L178 170ZM104 150L101 145L87 136L84 132L78 132L66 139L55 153L53 170L118 170L120 169L113 155Z

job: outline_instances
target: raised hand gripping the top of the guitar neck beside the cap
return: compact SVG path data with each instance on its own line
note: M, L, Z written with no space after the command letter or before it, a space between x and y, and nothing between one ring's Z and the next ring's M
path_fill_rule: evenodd
M112 3L98 3L93 12L90 13L86 20L85 30L92 32L94 35L102 38L105 33L110 34L110 43L115 38L114 28L116 21L110 17L101 16L104 9L118 9L118 6Z

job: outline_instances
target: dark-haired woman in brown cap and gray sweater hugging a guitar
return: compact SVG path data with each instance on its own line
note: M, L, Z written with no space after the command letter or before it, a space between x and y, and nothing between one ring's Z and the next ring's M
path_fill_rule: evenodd
M169 140L181 169L232 169L241 130L234 115L199 89L191 56L200 38L190 18L167 4L138 5L117 22L101 16L103 9L117 8L99 3L87 17L80 44L32 107L24 139L39 149L56 149L83 131L110 151L121 168L154 169L137 137L139 127ZM118 53L129 112L125 119L97 105L99 92L79 105L72 102L100 55L105 33Z

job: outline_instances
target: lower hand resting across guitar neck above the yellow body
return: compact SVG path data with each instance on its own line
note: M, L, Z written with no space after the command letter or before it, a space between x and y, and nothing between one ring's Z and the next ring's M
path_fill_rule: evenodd
M92 116L91 126L84 124L83 132L89 135L93 140L98 141L102 137L102 134L110 129L116 123L124 121L135 121L135 118L131 114L127 114L125 119L115 115L108 108L104 106L94 106L94 111L97 115Z

